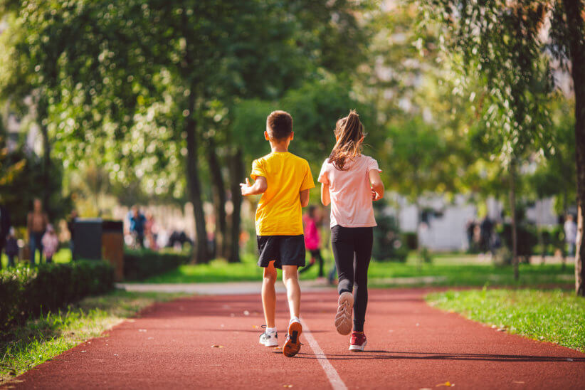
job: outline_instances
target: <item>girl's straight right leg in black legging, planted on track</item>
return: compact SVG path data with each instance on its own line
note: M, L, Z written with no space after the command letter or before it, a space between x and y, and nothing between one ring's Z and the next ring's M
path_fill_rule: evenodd
M354 276L354 330L364 331L366 307L368 305L368 267L371 246L374 241L373 228L359 228L355 235L355 276Z

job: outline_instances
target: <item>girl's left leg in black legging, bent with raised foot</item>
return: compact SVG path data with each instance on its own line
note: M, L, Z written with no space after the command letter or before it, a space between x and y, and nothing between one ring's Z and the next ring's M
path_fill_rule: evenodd
M352 228L333 226L331 229L331 247L337 265L337 292L352 292L354 288L354 240Z

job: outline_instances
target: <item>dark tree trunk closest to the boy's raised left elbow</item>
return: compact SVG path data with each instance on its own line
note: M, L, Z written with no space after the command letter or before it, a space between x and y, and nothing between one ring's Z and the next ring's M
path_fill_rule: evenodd
M230 191L231 201L233 202L233 213L231 214L231 223L228 243L228 262L238 263L240 261L240 225L242 194L240 183L244 181L245 173L242 162L242 150L236 149L230 157Z

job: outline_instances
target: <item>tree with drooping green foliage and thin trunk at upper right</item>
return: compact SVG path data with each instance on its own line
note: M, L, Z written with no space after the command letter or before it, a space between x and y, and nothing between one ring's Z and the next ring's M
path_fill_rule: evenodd
M512 253L518 278L516 182L518 167L532 152L551 149L546 98L551 68L542 56L540 33L547 15L542 1L423 1L428 19L446 28L445 49L461 58L465 76L478 81L478 110L485 145L507 168L510 180ZM468 80L467 80L468 81ZM474 85L475 87L475 85Z

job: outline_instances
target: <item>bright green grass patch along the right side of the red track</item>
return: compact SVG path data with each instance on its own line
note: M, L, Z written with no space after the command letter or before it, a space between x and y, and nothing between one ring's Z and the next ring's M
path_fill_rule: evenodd
M585 351L585 298L562 290L466 290L427 295L442 310Z

